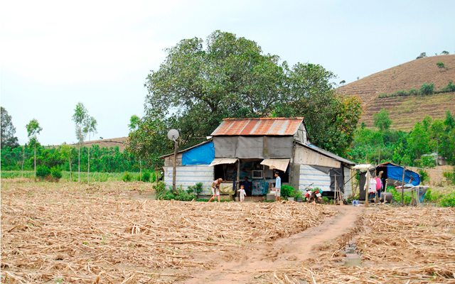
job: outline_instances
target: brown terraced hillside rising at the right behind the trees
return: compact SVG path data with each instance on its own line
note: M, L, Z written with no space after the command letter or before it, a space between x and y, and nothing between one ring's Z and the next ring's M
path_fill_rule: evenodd
M437 62L444 62L445 68L437 67ZM455 82L455 55L440 55L420 58L390 69L375 73L338 88L341 94L355 95L362 99L364 111L360 122L373 126L373 114L380 109L390 111L392 128L409 131L417 121L429 115L434 119L444 118L449 109L455 114L455 93L432 94L429 96L378 97L379 94L410 89L420 89L422 84L434 84L434 89L441 89Z

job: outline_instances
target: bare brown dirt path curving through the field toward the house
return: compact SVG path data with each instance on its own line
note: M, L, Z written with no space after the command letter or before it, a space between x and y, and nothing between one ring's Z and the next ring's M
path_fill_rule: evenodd
M195 258L218 263L213 269L191 273L193 278L178 283L247 283L262 273L294 266L311 257L311 249L346 233L354 226L363 207L338 206L336 217L326 217L316 227L267 244L247 244L224 253L196 254Z

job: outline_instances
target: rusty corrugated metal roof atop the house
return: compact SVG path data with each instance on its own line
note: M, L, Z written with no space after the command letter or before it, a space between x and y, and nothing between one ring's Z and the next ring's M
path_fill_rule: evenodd
M254 136L274 135L291 136L297 132L303 117L296 118L262 118L262 119L223 119L211 136Z

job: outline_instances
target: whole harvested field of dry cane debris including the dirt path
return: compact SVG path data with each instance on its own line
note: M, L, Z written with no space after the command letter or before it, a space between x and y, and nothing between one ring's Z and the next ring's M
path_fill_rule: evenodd
M177 202L1 180L1 283L455 283L455 209ZM361 264L346 266L345 246Z

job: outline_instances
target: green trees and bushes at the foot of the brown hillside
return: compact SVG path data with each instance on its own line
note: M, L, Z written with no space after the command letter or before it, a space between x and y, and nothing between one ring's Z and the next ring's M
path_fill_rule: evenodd
M355 133L350 158L356 163L393 162L402 165L431 167L437 153L455 165L455 119L446 111L444 119L426 116L409 133L390 129L392 121L386 109L375 114L375 128L361 125Z

